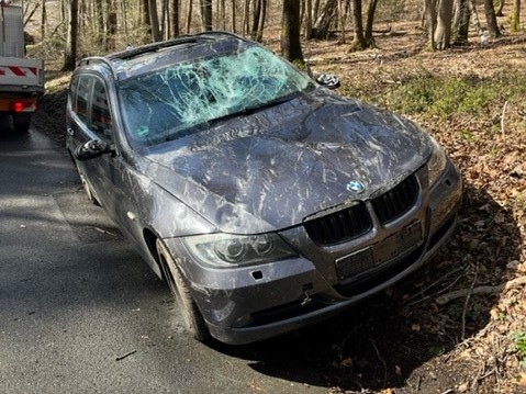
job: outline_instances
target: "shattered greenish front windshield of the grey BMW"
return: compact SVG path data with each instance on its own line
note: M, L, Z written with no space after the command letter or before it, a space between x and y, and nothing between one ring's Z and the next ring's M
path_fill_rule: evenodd
M126 80L119 95L128 135L152 145L279 103L311 87L306 76L280 57L249 46Z

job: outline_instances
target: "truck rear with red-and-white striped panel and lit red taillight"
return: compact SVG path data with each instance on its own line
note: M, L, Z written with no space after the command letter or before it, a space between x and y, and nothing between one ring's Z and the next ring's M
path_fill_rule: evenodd
M0 0L0 115L16 132L27 132L44 94L44 60L25 56L22 4Z

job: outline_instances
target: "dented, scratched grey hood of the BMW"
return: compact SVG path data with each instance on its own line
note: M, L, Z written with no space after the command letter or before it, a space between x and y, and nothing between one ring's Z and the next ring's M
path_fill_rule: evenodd
M411 122L316 90L150 147L145 170L220 230L254 234L378 195L429 155Z

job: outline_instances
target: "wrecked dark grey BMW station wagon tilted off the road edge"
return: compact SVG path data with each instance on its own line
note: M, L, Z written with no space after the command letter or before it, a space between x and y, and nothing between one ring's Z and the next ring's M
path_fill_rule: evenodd
M444 244L461 200L416 125L228 33L83 59L67 148L200 340L272 337L391 285Z

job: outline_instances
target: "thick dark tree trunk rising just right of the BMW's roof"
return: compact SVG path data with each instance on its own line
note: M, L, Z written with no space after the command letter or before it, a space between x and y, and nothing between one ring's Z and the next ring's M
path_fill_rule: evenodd
M300 42L300 2L298 0L283 0L281 55L298 66L305 64Z

